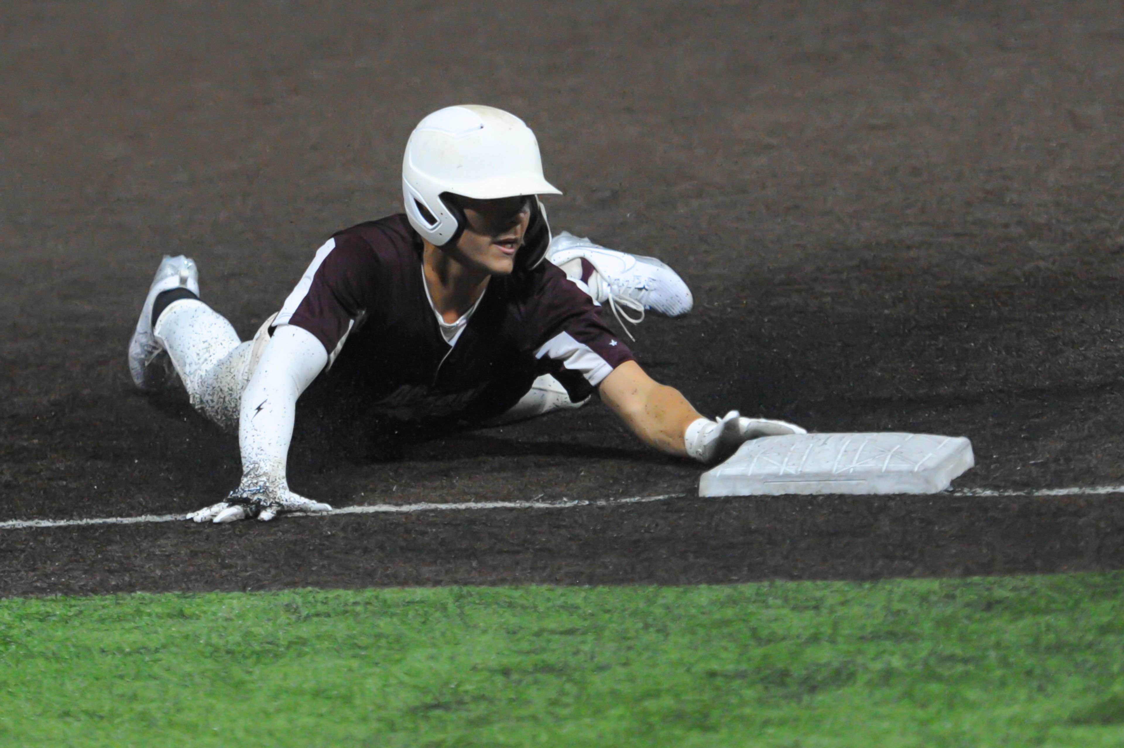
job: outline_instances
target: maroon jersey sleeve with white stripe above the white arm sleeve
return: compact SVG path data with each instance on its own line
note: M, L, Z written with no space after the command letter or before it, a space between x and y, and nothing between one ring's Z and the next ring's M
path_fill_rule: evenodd
M317 250L273 324L296 325L312 333L328 352L330 367L373 303L379 271L378 256L363 238L333 236Z

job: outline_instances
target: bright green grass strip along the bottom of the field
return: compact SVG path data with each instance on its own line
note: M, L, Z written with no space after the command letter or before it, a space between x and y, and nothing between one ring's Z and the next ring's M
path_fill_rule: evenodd
M0 742L1121 746L1124 574L0 601Z

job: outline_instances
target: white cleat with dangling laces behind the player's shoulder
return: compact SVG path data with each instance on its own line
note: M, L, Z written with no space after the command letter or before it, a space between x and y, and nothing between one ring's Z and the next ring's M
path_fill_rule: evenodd
M593 300L598 304L607 303L617 319L623 315L628 322L638 324L647 309L669 317L680 317L690 312L695 304L691 289L683 279L655 258L618 252L570 232L562 232L551 240L546 259L566 271L571 280L575 277L582 280ZM586 260L593 267L595 272L588 279L580 278L580 260ZM629 316L618 307L638 314Z

